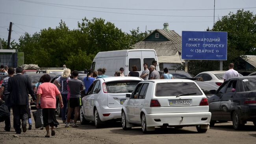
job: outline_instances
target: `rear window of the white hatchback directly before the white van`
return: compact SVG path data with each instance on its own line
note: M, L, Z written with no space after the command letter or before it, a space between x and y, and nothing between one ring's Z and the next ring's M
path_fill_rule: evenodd
M113 81L106 83L108 93L131 93L140 81Z

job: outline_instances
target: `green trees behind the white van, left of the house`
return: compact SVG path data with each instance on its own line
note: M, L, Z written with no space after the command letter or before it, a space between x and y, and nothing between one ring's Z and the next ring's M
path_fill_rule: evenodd
M95 55L100 51L123 50L143 39L144 34L122 32L113 23L102 18L78 22L78 29L70 30L61 20L56 28L49 27L28 33L19 39L19 52L24 52L24 63L35 63L39 67L62 67L71 70L89 68Z

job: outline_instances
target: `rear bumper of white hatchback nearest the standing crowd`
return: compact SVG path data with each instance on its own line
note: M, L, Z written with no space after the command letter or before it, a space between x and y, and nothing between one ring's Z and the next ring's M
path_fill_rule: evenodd
M100 116L100 120L101 121L108 121L111 119L121 119L121 110L122 107L117 107L117 108L109 108L106 105L100 106L101 108L101 114ZM103 114L108 114L110 113L108 116L103 116Z

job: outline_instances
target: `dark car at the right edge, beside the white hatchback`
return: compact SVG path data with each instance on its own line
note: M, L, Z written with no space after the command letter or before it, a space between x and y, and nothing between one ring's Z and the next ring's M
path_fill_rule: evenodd
M216 121L232 121L239 130L247 121L256 126L256 76L235 77L224 83L208 98L210 126Z

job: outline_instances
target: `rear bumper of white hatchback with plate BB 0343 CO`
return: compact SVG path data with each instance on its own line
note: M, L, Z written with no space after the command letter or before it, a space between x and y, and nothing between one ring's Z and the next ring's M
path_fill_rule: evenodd
M210 112L193 113L150 113L145 115L147 127L163 126L195 126L209 125L211 120Z

